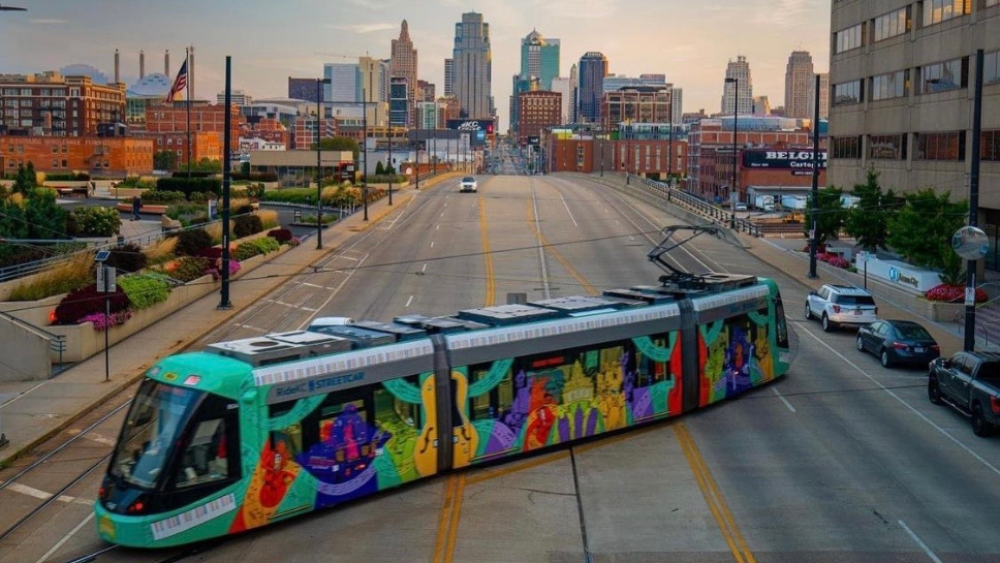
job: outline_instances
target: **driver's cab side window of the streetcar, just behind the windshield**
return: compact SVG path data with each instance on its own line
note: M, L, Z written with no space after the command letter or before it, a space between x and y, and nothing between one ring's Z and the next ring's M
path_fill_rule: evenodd
M214 395L206 398L184 437L173 477L175 489L238 476L238 412L232 401Z

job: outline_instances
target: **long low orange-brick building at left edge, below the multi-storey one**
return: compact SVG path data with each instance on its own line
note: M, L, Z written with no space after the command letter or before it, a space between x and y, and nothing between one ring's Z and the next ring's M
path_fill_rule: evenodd
M153 171L154 142L129 137L0 136L0 170L7 177L20 165L39 172L89 172L120 177Z

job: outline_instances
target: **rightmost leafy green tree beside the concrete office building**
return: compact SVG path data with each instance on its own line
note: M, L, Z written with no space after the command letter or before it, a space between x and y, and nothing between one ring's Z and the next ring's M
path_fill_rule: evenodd
M934 188L907 194L906 204L889 222L889 245L918 266L954 269L946 255L954 254L951 236L965 224L969 204L950 199L949 192L937 195Z

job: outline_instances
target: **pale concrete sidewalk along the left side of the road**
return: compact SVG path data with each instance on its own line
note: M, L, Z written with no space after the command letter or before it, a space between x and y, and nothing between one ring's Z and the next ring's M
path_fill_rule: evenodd
M450 179L444 173L421 189ZM204 335L229 321L239 312L264 299L271 291L337 250L348 238L370 228L395 210L402 209L415 189L396 192L396 205L389 207L386 198L369 204L369 221L361 213L324 229L324 248L316 250L311 240L292 248L254 270L248 280L241 281L239 291L232 296L232 309L219 310L218 292L213 292L187 307L165 317L153 327L112 346L110 349L110 381L104 381L104 355L98 354L80 362L52 379L39 382L0 384L0 431L10 443L0 449L0 467L30 451L62 431L81 416L110 397L120 393L142 377L155 361L183 351ZM152 221L124 222L128 228L144 232ZM156 230L159 229L159 222ZM151 226L150 226L151 227ZM124 233L123 233L124 234Z

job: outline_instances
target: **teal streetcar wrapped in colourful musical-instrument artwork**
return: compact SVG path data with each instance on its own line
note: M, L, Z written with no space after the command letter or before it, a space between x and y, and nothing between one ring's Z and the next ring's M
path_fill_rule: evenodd
M664 260L674 246L649 255L669 268L656 285L318 321L160 360L100 487L101 538L157 548L236 534L784 375L792 351L775 282L685 274Z

